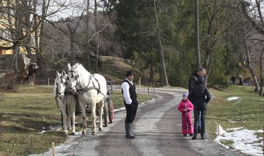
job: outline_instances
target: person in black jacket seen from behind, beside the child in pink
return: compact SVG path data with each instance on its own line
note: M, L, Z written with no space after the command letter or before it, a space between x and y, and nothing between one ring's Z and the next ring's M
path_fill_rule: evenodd
M203 77L198 77L197 84L189 93L189 100L194 104L194 136L191 139L197 138L199 112L201 112L201 138L206 138L206 105L210 100L210 93L203 83Z

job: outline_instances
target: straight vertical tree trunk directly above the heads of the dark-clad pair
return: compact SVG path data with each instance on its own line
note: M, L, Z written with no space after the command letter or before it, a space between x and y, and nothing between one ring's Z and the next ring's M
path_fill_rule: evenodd
M200 58L200 32L199 32L199 8L198 0L194 0L194 19L195 19L195 39L196 39L196 63L197 67L201 67L201 58Z

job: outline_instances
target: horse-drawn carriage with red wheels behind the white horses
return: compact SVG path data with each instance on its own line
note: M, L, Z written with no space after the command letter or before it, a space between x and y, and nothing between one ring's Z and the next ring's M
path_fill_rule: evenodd
M108 124L113 123L114 118L114 106L113 106L113 81L107 81L107 95L106 95L106 101L103 105L103 124L104 126L108 126ZM87 115L91 114L91 110L89 105L86 106L86 113ZM96 112L97 115L98 112ZM76 105L75 109L75 115L81 115L82 111L80 108L80 105Z

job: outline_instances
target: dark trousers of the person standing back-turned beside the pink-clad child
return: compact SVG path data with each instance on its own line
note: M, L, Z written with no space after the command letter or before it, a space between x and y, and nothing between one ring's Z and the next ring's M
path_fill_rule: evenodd
M206 102L194 103L194 133L198 133L199 114L201 114L201 134L206 133Z

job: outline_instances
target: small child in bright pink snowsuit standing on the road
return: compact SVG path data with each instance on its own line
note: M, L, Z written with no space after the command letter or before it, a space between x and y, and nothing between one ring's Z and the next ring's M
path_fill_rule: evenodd
M178 110L182 112L182 134L187 136L194 135L194 126L191 123L191 110L194 110L194 105L188 99L188 93L182 95L182 101L178 105Z

